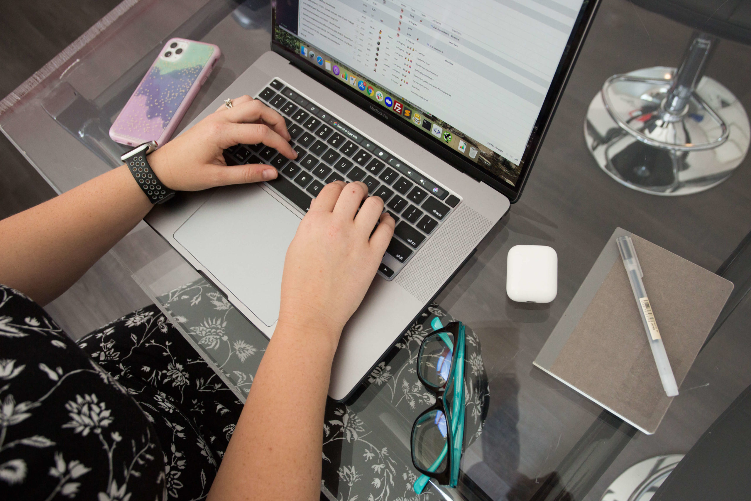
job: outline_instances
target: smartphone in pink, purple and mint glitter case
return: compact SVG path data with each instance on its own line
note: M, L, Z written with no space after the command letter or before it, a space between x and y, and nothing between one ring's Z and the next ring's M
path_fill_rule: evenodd
M172 38L110 127L116 142L162 146L209 77L222 53L213 44Z

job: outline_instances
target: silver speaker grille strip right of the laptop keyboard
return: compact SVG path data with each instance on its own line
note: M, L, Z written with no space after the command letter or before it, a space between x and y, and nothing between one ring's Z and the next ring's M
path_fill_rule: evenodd
M427 303L492 226L490 220L460 204L428 245L397 275L395 282Z

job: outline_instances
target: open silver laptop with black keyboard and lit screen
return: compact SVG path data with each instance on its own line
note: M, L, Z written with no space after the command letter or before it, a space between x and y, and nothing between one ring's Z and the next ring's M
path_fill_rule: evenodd
M271 50L225 98L285 117L299 156L261 145L268 183L182 193L146 222L264 335L279 317L287 247L312 198L362 181L397 222L337 349L347 400L517 201L593 19L590 0L277 0Z

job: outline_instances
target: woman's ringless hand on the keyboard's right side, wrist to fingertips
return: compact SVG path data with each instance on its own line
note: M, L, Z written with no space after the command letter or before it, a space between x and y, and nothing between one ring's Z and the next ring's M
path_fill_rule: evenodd
M367 195L363 183L324 186L285 258L279 325L330 334L333 350L394 234L394 219L382 214L381 198L368 198L357 212Z

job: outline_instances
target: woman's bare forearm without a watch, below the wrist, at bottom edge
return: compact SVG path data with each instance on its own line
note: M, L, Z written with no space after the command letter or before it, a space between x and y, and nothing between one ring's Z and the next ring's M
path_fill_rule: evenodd
M209 498L317 500L326 395L338 333L277 327Z

